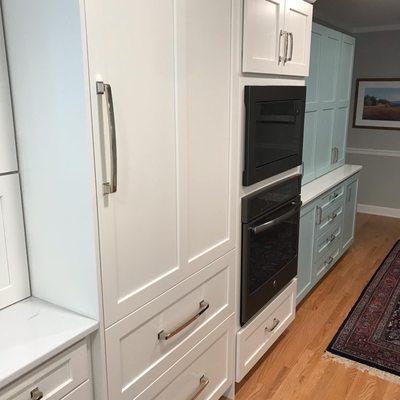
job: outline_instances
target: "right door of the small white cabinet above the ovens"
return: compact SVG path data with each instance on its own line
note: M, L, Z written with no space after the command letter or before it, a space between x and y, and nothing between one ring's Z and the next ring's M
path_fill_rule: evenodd
M288 34L286 75L308 76L310 69L313 6L303 0L286 0L285 31Z

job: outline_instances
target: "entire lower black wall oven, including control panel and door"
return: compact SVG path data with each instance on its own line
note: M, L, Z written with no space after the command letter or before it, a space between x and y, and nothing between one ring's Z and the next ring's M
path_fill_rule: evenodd
M243 326L296 275L301 175L242 199Z

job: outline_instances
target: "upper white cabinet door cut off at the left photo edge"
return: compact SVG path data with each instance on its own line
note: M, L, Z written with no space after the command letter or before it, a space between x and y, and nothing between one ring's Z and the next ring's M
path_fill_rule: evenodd
M7 56L0 18L0 174L17 171L14 121L8 79Z

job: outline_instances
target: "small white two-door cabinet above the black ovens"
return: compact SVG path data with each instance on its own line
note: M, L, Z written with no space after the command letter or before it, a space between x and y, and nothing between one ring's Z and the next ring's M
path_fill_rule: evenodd
M244 0L243 72L307 76L312 11L303 0Z

